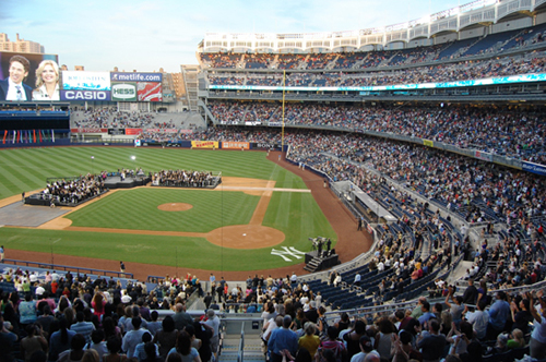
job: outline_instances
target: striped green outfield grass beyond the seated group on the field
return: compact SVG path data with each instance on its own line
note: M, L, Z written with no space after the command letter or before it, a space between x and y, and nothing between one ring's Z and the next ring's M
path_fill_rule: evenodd
M91 157L94 157L92 160ZM135 156L133 161L131 156ZM41 189L47 178L142 167L189 169L223 176L276 180L276 188L306 189L301 179L265 160L265 153L180 148L49 147L0 150L0 198Z

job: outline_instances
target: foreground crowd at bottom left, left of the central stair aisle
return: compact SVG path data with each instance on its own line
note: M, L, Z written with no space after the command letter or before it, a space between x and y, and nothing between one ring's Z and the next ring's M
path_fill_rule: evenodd
M217 352L215 313L211 310L202 321L186 313L187 298L201 288L194 277L166 278L150 292L143 282L128 281L123 288L114 278L92 279L70 272L38 277L17 268L0 279L3 287L14 288L0 292L2 361L15 357L23 361L165 361L170 354L191 353L195 361L206 362ZM158 321L159 309L173 313ZM186 342L193 348L182 347ZM94 350L96 360L82 359L83 350Z

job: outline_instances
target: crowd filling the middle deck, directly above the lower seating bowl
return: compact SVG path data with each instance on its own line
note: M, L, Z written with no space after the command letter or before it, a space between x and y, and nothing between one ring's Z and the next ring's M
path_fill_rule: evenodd
M265 122L282 122L282 106L278 104L247 102L210 104L213 116L226 123L254 119ZM236 107L237 116L229 105ZM508 156L536 164L546 162L544 140L546 129L542 111L537 108L499 106L446 107L368 107L319 104L287 104L284 110L286 124L309 126L337 126L351 131L376 131L402 134L443 142L465 149Z

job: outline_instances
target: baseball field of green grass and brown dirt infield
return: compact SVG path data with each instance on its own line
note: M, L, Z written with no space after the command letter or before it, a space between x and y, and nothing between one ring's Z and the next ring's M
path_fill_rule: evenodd
M264 152L3 149L0 200L3 205L17 202L22 192L43 189L47 178L121 168L142 168L146 173L162 169L222 172L224 182L214 191L151 186L110 191L38 227L11 227L0 220L5 249L36 253L34 258L43 253L44 262L55 253L73 256L73 263L94 258L97 266L103 260L229 272L300 264L300 253L310 250L309 237L331 238L334 245L337 240L301 178L268 159Z

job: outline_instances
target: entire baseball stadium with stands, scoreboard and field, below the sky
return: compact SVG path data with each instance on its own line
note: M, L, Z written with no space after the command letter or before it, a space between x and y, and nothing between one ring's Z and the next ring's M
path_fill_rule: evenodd
M546 361L545 40L476 0L179 73L0 51L0 361Z

